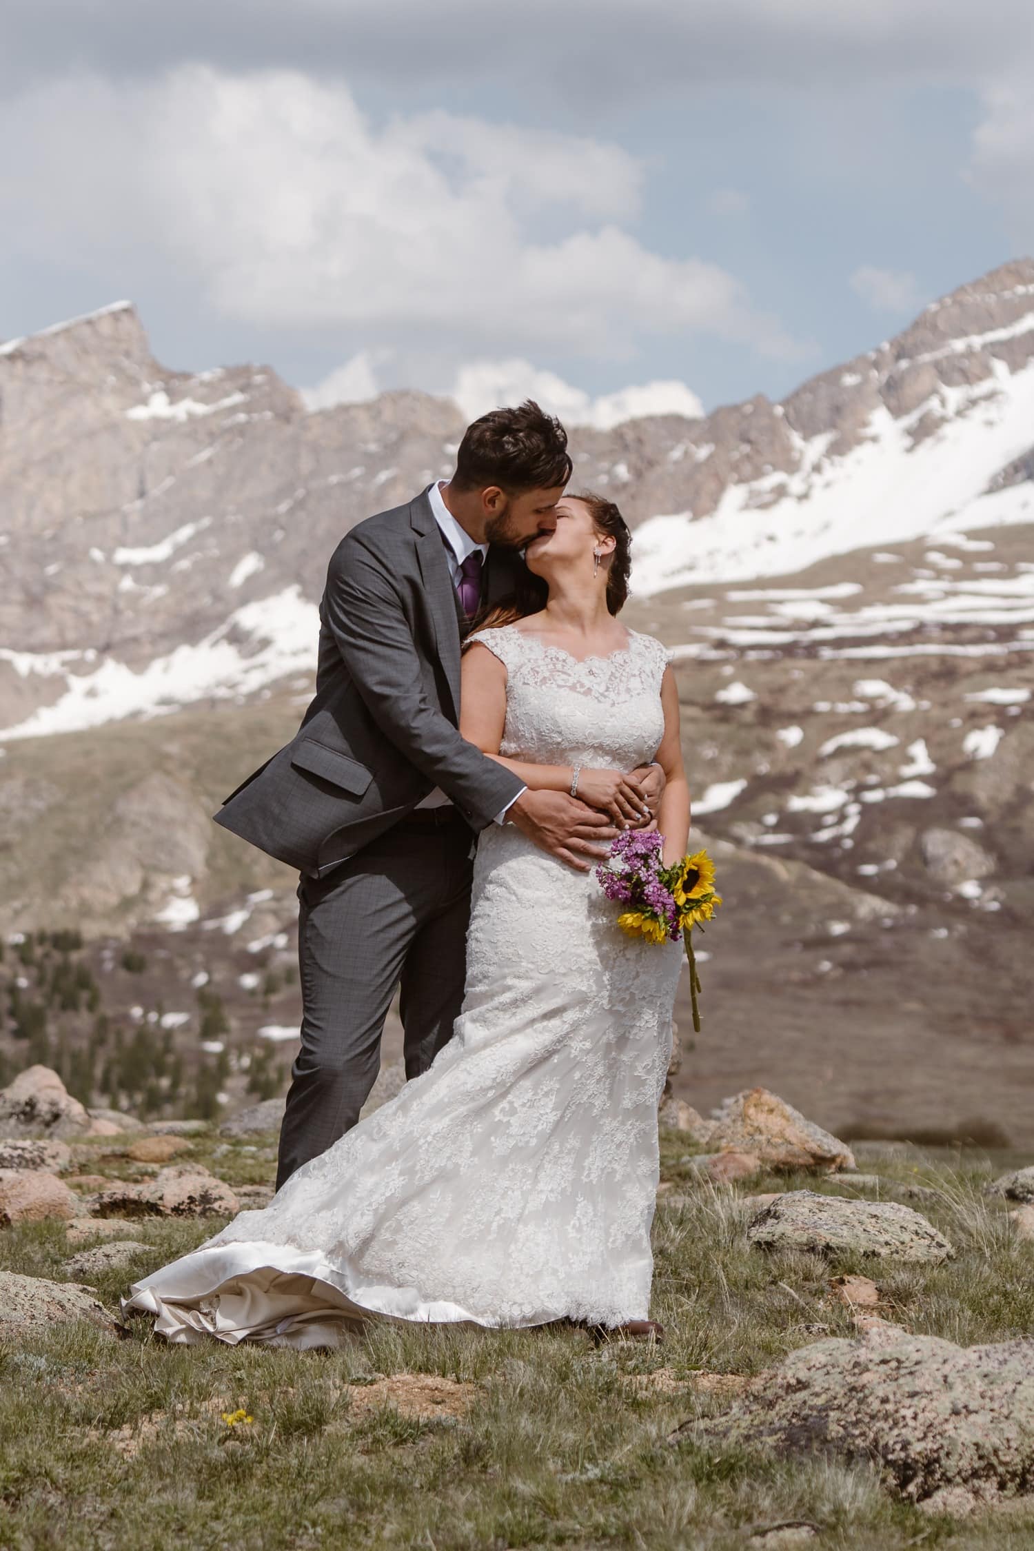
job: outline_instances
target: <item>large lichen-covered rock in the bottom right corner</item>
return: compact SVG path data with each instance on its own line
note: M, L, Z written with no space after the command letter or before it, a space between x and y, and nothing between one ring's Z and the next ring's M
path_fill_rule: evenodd
M760 1374L698 1436L876 1461L916 1503L994 1503L1034 1484L1034 1342L955 1346L877 1326ZM947 1495L950 1494L950 1497Z

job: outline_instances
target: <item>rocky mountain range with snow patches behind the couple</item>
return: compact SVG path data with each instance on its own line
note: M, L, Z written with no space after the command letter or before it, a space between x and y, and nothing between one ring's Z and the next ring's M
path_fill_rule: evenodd
M464 428L423 394L310 411L268 369L169 372L129 302L0 346L0 740L304 687L336 540ZM639 527L640 597L1034 523L1034 261L781 403L572 451Z

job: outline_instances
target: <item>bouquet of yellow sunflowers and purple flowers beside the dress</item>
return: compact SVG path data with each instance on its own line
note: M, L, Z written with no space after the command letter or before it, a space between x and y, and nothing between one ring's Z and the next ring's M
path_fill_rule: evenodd
M629 937L645 937L648 943L685 941L690 962L690 997L693 1028L699 1035L701 1014L696 999L701 982L693 954L693 927L701 931L722 903L715 893L715 862L707 851L684 856L674 867L662 861L663 836L656 830L625 830L611 845L611 856L597 867L603 893L625 909L617 924Z

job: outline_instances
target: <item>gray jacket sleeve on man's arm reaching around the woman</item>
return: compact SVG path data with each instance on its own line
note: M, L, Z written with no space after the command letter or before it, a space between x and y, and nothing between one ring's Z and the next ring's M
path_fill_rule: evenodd
M384 565L346 538L330 558L324 619L377 726L482 830L522 791L428 698L402 597Z

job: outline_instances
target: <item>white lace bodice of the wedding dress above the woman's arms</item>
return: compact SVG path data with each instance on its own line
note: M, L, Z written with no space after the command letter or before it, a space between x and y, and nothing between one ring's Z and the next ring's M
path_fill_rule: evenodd
M653 760L663 737L660 679L668 651L628 631L628 647L578 661L561 647L501 625L477 630L507 670L507 720L499 754L535 765L634 769Z

